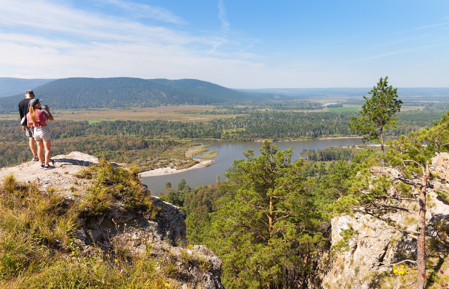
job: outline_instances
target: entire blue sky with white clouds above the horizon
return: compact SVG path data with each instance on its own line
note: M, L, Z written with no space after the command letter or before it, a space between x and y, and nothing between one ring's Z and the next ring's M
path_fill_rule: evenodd
M449 87L448 1L1 0L0 76Z

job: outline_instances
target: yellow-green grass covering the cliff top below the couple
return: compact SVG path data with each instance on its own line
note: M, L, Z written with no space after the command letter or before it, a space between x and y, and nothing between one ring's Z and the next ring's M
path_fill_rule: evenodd
M110 207L113 197L105 192L113 192L117 185L126 192L122 201L128 207L154 208L150 195L141 190L135 171L112 169L105 162L91 167L84 175L93 177L92 186L84 198L73 203L66 203L51 188L41 192L33 183L20 184L12 175L3 180L1 288L167 287L164 282L170 276L164 268L158 269L162 267L161 260L132 255L130 248L110 252L94 248L86 253L77 246L71 235L78 226L77 216L83 211L95 215Z

